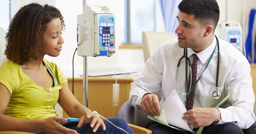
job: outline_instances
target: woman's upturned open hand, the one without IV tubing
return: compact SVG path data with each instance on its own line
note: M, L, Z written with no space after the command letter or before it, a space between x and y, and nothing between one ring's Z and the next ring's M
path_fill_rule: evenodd
M59 133L65 133L65 134L78 134L76 130L68 129L64 126L62 126L60 123L67 122L68 119L61 118L61 117L49 117L46 119L42 119L42 122L38 125L42 128L44 132L47 134L59 134Z

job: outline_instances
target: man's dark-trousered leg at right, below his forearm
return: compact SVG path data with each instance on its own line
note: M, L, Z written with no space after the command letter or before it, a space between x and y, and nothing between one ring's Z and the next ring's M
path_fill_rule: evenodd
M228 123L222 125L211 124L204 127L202 134L244 134L244 132L237 125Z

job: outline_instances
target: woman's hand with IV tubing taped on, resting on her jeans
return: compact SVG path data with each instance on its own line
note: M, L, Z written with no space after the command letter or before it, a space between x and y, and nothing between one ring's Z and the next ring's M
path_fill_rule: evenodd
M100 126L104 131L106 130L103 120L93 112L88 112L86 115L82 116L77 127L80 128L84 123L90 123L90 127L93 128L93 132L96 132Z

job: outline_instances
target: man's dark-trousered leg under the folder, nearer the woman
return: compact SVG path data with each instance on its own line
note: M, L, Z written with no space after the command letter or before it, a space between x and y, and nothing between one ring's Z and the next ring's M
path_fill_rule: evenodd
M152 134L184 134L155 121L149 121L146 128L151 130Z

